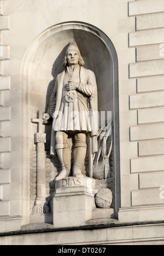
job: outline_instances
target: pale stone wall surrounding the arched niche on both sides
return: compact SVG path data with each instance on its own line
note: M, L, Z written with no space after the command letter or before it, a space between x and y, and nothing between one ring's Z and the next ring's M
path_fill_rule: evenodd
M45 84L38 98L35 84L27 86L29 73L22 75L30 61L26 56L43 31L66 22L96 27L118 55L119 222L163 219L163 15L163 0L0 0L0 232L29 224L30 152L36 150L37 130L31 118L44 111L44 92L53 79L51 63L38 68L33 62L30 74L37 72ZM60 54L60 46L54 49L55 56Z

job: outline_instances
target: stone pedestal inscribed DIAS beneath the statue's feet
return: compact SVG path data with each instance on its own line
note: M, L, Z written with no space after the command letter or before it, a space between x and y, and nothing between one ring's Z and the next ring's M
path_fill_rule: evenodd
M92 219L95 205L95 181L91 178L69 177L55 183L53 199L54 227L85 225Z

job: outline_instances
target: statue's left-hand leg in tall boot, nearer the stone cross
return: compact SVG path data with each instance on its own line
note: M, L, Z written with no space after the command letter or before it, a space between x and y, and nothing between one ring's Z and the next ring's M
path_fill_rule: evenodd
M67 139L67 133L56 132L56 152L58 159L60 160L62 170L55 178L55 181L68 177L71 171L71 149Z

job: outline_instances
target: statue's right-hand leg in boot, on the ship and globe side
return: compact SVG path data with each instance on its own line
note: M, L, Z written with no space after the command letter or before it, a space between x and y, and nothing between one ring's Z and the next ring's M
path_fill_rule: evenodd
M86 134L77 133L74 136L74 149L73 149L73 176L83 177L81 173L81 168L84 165L86 157Z

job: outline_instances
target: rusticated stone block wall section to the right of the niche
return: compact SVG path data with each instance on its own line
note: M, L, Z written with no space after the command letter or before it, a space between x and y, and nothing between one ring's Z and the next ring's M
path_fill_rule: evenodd
M130 156L130 168L124 170L126 181L121 179L122 191L130 183L125 192L129 200L121 193L121 206L132 207L131 217L126 216L127 209L120 211L120 220L125 222L161 220L163 214L163 8L163 1L128 3L128 15L136 21L128 34L129 47L136 49L136 61L129 64L129 79L136 84L136 92L130 94L128 111L134 118L134 123L130 119L129 147L136 156Z

